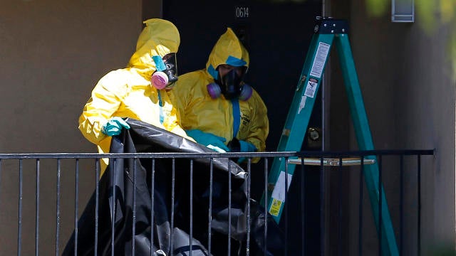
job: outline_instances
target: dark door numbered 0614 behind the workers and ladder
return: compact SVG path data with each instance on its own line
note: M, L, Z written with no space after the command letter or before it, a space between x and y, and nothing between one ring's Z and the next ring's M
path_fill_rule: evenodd
M181 44L180 74L205 68L212 46L227 27L237 31L250 53L246 82L259 92L270 124L266 151L276 151L291 99L304 65L316 16L321 16L321 0L302 1L163 1L163 18L177 26ZM309 127L321 127L321 93L318 93ZM303 150L320 150L306 144ZM259 200L264 184L264 165L252 166L252 198ZM270 159L269 164L272 163ZM299 203L301 175L296 171L289 202ZM305 175L306 255L319 255L319 172ZM301 255L301 215L286 213L289 225L289 255ZM281 226L284 221L281 221ZM293 227L293 228L290 228ZM284 227L283 227L284 228Z

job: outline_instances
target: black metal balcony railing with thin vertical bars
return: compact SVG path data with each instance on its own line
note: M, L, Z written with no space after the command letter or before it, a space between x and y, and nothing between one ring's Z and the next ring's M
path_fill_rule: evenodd
M400 255L420 255L420 228L421 228L421 174L423 171L432 171L433 150L373 150L373 151L302 151L302 152L258 152L258 153L134 153L134 154L0 154L0 254L7 255L61 255L67 242L73 240L71 245L73 255L81 252L81 243L78 240L87 240L81 237L81 215L87 210L90 197L93 198L93 255L100 255L98 240L109 233L107 240L110 241L111 255L114 255L115 238L118 228L111 221L110 230L100 230L99 223L106 218L115 216L115 208L111 207L108 215L99 215L100 194L105 193L108 198L116 198L119 193L116 186L100 186L100 161L103 158L112 159L111 164L123 163L123 161L140 161L140 169L133 167L131 178L133 187L139 186L138 175L145 174L150 180L147 181L150 196L150 213L147 218L154 218L160 213L154 206L157 200L154 195L155 186L162 186L163 181L157 180L155 171L163 164L170 171L170 199L169 216L170 230L187 222L184 228L188 235L190 249L187 254L196 254L194 242L197 238L201 242L202 252L214 254L219 239L224 240L224 255L231 255L239 248L242 255L253 255L253 250L264 252L280 250L280 255L384 255L382 225L373 221L378 218L382 223L382 215L373 216L375 211L369 210L366 204L366 188L363 169L366 164L372 164L371 158L375 157L378 164L379 194L384 191L388 198L388 206L391 213L391 221L394 227L395 239ZM216 186L220 186L221 175L215 171L214 163L220 159L237 159L245 157L249 159L247 164L239 166L228 161L228 171L225 178L227 198L219 198L214 201ZM259 157L257 164L252 164L251 159ZM281 157L289 164L298 164L296 172L299 174L293 178L286 193L284 215L280 223L271 222L261 213L267 212L266 197L261 201L261 195L265 191L271 191L271 184L267 178L271 159ZM161 161L161 160L164 161ZM200 163L200 159L206 162ZM147 164L145 164L147 161ZM185 162L185 174L182 173L182 164ZM110 165L111 165L110 164ZM157 164L160 166L157 167ZM188 165L187 165L188 164ZM215 163L216 164L216 163ZM136 165L133 165L136 166ZM145 167L147 166L147 167ZM178 168L177 168L178 166ZM205 167L204 167L205 166ZM236 172L232 169L238 168ZM241 170L239 172L239 170ZM132 171L132 170L129 170ZM214 173L215 172L215 173ZM203 175L206 175L204 176ZM188 183L182 185L182 176L188 177ZM207 194L207 209L204 220L195 213L201 213L195 208L199 201L202 189L199 178L208 177L209 186ZM217 182L214 182L217 176ZM142 176L139 176L142 177ZM239 186L237 178L240 177L242 186ZM260 182L261 181L261 182ZM314 181L317 181L315 183ZM110 182L114 182L111 180ZM113 184L113 183L111 183ZM383 184L383 186L381 186ZM175 194L178 186L185 186L188 191L188 206L185 212L176 211L176 206L182 195ZM205 185L204 185L205 186ZM356 189L355 189L356 187ZM234 206L239 203L236 188L242 188L245 200L241 207ZM297 189L294 191L294 189ZM110 189L108 193L103 189ZM196 192L194 192L196 191ZM204 191L203 191L204 192ZM357 195L354 195L354 192ZM123 193L120 191L120 193ZM270 192L269 192L270 193ZM125 196L124 194L122 194ZM205 194L204 194L205 195ZM131 218L136 223L142 218L142 212L137 205L140 198L138 191L133 189L133 206ZM226 199L226 202L225 202ZM219 218L214 216L217 212L214 208L220 207L221 202L226 203L227 218L222 222L214 222ZM264 203L263 203L264 202ZM110 201L115 205L115 201ZM215 204L215 205L214 205ZM353 205L356 205L354 207ZM204 207L206 204L204 203ZM234 208L241 209L241 215L234 214ZM83 208L84 210L81 210ZM378 212L382 212L382 197L379 198ZM366 211L371 213L366 214ZM189 213L181 216L182 213ZM178 216L176 216L178 215ZM244 216L245 225L242 227L244 235L237 234L238 230L232 227L242 225L239 216ZM259 218L261 217L261 218ZM177 220L177 218L181 218ZM263 221L261 223L261 220ZM193 223L197 221L198 223ZM199 225L203 223L204 228ZM215 236L213 230L220 228L218 225L227 224L226 236ZM83 228L83 227L82 227ZM138 233L138 225L131 225L128 234ZM239 227L238 227L239 228ZM253 230L252 230L253 228ZM96 230L96 231L95 231ZM203 232L207 230L207 232ZM274 234L279 230L280 235ZM171 231L173 232L173 231ZM199 233L198 233L199 232ZM261 233L259 235L258 233ZM204 239L202 239L203 234ZM149 241L155 241L157 234L152 230L147 235ZM239 235L239 237L236 237ZM234 238L234 239L232 239ZM252 239L254 238L254 239ZM277 245L279 238L281 245ZM375 239L373 239L375 238ZM179 248L174 247L175 237L170 236L170 252L177 253ZM133 240L133 237L132 237ZM375 240L375 241L373 241ZM240 242L239 242L240 241ZM260 241L260 242L258 242ZM261 242L262 241L262 242ZM373 249L372 245L376 246ZM152 246L152 245L150 245ZM217 244L218 246L218 244ZM109 246L108 246L109 247ZM138 255L141 250L138 243L130 242L128 250L133 250ZM225 249L226 248L226 249ZM155 248L160 249L160 248ZM152 250L151 250L152 251ZM96 253L98 252L98 253ZM153 255L153 254L151 254Z

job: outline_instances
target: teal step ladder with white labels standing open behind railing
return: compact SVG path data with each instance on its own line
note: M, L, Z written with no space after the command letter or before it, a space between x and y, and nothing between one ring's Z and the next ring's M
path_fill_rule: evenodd
M358 75L348 41L348 23L344 20L317 17L314 35L311 38L304 68L296 87L288 116L286 117L286 123L277 151L301 151L318 88L320 87L322 75L328 62L328 56L333 43L336 44L336 50L338 51L351 117L353 119L353 127L356 132L356 139L358 140L358 148L359 150L374 149L358 82ZM383 255L399 255L388 210L388 203L383 189L381 190L381 229L379 229L378 164L375 156L366 156L366 159L373 162L373 164L365 164L363 166L363 174L371 200L375 225L377 230L381 230L380 238ZM268 212L276 220L276 223L279 223L282 210L284 209L286 197L285 183L288 183L288 186L286 186L288 191L295 166L296 164L285 166L285 159L283 157L276 157L269 171L268 183L270 190L267 193L267 208ZM286 178L285 173L288 173ZM264 202L264 200L261 200L261 202Z

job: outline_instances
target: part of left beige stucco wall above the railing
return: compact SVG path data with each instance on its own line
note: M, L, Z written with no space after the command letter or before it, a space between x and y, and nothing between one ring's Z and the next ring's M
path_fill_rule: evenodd
M122 68L141 1L16 1L0 11L2 151L90 151L78 115L94 82ZM37 143L39 142L39 143Z

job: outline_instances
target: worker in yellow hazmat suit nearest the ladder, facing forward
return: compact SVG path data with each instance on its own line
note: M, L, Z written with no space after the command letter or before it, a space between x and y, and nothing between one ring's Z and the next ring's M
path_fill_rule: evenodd
M219 152L266 148L267 110L257 91L243 80L248 67L247 49L227 28L212 48L206 68L180 75L170 97L182 127L198 143Z

